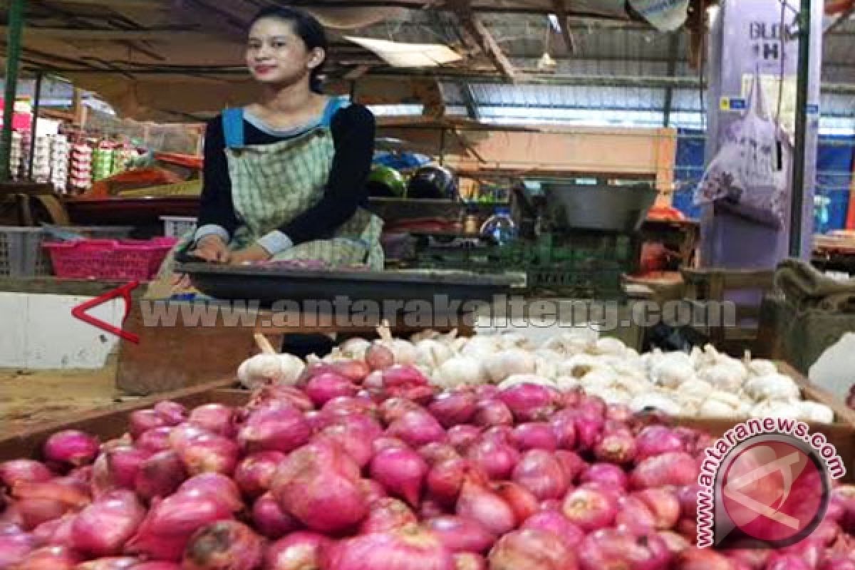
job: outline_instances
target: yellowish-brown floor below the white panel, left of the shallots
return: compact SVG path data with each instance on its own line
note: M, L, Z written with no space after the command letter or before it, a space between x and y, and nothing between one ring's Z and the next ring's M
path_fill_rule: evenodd
M115 362L98 370L0 368L0 426L4 432L130 400L133 397L122 396L115 388Z

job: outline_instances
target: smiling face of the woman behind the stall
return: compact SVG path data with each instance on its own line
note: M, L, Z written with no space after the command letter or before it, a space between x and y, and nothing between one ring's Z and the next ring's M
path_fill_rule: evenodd
M252 77L262 83L292 85L308 79L323 58L320 48L306 48L289 21L262 18L250 29L246 65Z

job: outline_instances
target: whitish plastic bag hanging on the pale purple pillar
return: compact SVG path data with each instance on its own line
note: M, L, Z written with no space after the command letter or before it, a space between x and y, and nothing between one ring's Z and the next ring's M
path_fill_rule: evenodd
M781 126L766 113L757 74L745 114L724 135L695 190L694 203L722 202L780 228L787 214L793 149Z

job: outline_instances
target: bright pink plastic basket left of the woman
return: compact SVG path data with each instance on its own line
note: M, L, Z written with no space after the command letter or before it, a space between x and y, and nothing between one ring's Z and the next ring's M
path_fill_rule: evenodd
M145 281L155 277L177 243L177 238L79 239L46 243L44 248L57 277Z

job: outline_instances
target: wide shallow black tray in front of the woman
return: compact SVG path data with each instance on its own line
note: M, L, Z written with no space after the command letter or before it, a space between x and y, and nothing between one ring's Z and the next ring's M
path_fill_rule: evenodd
M175 271L189 275L192 284L209 297L251 299L263 305L283 300L332 302L341 296L375 302L389 299L431 303L439 296L449 302L490 302L519 284L513 276L467 272L327 271L198 262L180 263Z

